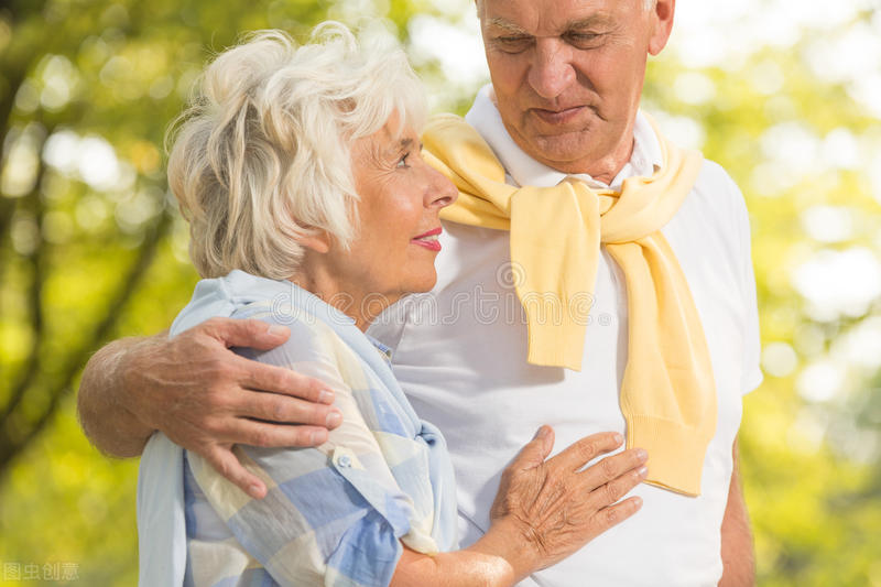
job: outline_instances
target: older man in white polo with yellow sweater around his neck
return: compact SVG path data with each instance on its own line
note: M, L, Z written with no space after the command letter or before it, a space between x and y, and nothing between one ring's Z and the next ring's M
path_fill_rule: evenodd
M550 423L566 446L614 430L649 448L642 510L523 585L750 585L737 431L761 372L747 211L718 165L639 110L675 0L477 8L492 84L467 123L440 118L424 137L460 191L438 283L370 330L447 437L463 543L488 528L531 431ZM84 376L85 430L120 456L162 430L261 494L231 444L319 444L339 421L320 382L226 349L286 336L262 328L109 346Z

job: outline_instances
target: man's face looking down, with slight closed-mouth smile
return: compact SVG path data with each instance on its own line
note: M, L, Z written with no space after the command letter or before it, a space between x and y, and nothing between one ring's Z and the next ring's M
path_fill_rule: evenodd
M533 159L610 181L630 157L648 55L675 0L479 0L499 111Z

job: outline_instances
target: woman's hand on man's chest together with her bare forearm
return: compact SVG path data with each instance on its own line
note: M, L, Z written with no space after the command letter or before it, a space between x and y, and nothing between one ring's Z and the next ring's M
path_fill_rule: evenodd
M645 480L644 450L624 450L584 468L622 442L618 433L592 434L545 460L554 434L542 426L502 474L489 531L454 553L405 551L392 585L508 587L573 554L642 506L638 497L618 500Z

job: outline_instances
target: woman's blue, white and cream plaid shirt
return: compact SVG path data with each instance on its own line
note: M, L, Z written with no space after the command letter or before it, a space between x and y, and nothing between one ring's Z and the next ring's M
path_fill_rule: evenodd
M218 315L290 327L281 347L238 352L320 379L344 423L317 448L236 446L267 483L262 500L186 453L185 585L385 586L402 543L426 554L456 548L446 445L413 412L387 350L305 290L241 271L200 281L172 334Z

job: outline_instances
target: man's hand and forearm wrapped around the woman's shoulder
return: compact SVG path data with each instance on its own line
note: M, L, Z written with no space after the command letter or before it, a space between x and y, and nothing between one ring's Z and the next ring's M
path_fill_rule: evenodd
M83 373L83 430L118 457L139 455L161 431L261 498L265 485L238 461L233 444L317 446L341 422L333 391L320 381L230 350L268 350L289 335L261 320L211 318L172 339L161 334L112 343Z

